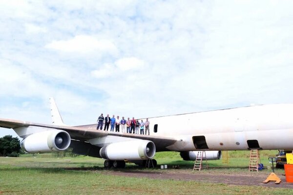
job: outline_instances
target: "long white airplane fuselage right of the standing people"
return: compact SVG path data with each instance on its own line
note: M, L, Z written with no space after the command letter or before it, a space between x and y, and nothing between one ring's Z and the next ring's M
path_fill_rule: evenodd
M249 106L148 120L151 135L177 140L167 147L171 151L293 149L293 104ZM153 132L155 124L156 133Z

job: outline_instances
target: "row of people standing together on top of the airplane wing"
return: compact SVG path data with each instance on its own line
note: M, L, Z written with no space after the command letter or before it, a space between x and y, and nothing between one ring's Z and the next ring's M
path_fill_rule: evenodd
M107 114L107 116L104 118L103 114L101 114L101 116L97 120L98 122L97 130L103 129L104 121L105 121L104 131L105 130L108 131L109 126L111 126L110 131L112 132L114 132L114 128L115 128L115 132L120 132L120 127L121 127L121 133L129 133L129 134L133 133L133 134L146 135L146 132L147 132L149 135L148 118L146 118L146 122L144 122L143 120L139 122L139 120L135 120L134 117L132 117L132 120L129 120L129 117L126 120L124 119L124 117L120 119L119 116L115 118L114 115L112 118L110 118L109 114Z

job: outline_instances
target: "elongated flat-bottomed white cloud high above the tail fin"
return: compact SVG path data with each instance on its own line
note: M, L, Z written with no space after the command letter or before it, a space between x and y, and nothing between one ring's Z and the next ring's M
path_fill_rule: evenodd
M45 47L74 53L114 52L116 50L115 45L110 40L98 40L87 35L75 36L69 40L54 40Z

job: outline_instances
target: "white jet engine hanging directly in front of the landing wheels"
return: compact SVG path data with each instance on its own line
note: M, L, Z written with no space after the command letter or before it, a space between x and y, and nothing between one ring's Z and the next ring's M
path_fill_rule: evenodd
M112 143L100 150L100 156L107 160L141 160L155 156L156 146L152 141L133 140Z

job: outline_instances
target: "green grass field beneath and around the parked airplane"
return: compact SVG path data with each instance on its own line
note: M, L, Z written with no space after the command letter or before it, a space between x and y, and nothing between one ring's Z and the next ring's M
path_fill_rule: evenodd
M216 174L247 174L249 151L229 152L230 163L223 165L221 160L209 161L209 169L203 173ZM270 166L268 156L276 151L260 151L262 163ZM181 172L196 174L192 171L193 161L183 161L179 153L157 153L158 164L179 165L180 169L140 169L136 165L126 164L131 172ZM54 158L52 154L22 155L21 157L0 157L0 195L71 195L71 194L159 194L159 195L292 195L293 190L287 188L269 188L257 186L235 186L223 183L195 182L171 179L150 179L137 177L115 176L119 170L105 170L104 160L88 156L73 158ZM113 172L113 174L106 174ZM265 169L262 173L269 173ZM276 170L284 174L284 170ZM253 173L258 174L258 173ZM252 175L253 176L253 175Z

